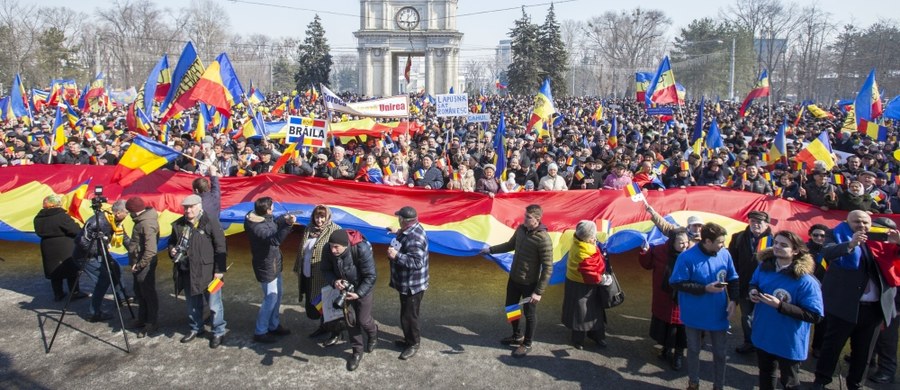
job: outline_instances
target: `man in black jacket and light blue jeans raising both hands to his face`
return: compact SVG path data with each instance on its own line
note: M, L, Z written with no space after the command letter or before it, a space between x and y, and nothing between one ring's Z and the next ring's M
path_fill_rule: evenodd
M244 231L250 239L253 274L263 291L253 333L253 341L258 343L272 343L277 340L276 336L291 334L289 329L281 326L279 318L284 292L281 286L281 271L284 268L281 243L291 233L297 219L290 214L275 218L272 210L272 198L264 196L253 203L253 211L244 218Z

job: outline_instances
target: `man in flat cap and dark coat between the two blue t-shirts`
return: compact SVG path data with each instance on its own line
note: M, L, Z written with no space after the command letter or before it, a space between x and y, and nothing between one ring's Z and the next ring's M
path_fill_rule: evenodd
M751 316L755 304L750 300L750 280L759 266L756 253L772 246L772 228L769 226L769 214L765 211L754 210L747 214L747 229L731 236L728 252L734 259L739 277L738 305L741 308L741 328L744 332L744 343L738 346L737 353L751 353L756 351L751 341Z

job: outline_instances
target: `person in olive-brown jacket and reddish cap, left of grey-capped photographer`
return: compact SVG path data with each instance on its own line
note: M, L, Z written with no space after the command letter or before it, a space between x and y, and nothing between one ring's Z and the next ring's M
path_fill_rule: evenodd
M128 264L134 275L134 296L140 305L137 321L132 327L138 328L138 337L144 337L155 333L159 325L159 296L156 293L159 214L140 197L128 199L125 210L134 221L131 240L127 243Z

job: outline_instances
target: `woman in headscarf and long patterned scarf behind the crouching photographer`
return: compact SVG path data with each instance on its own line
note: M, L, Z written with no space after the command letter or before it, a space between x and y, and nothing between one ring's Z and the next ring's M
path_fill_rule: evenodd
M319 263L322 261L322 251L328 250L328 237L340 228L331 220L331 210L325 205L318 205L313 209L309 226L303 230L300 239L300 250L294 263L294 272L299 280L300 302L305 303L307 317L319 320L319 328L309 337L328 333L322 326L322 315L316 308L316 301L321 300L322 287L325 287L325 276L320 271Z

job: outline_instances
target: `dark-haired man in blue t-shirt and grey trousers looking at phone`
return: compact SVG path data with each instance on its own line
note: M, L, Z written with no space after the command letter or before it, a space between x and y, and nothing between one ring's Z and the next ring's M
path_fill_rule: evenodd
M687 336L688 390L700 388L700 335L713 345L713 389L725 387L725 346L729 318L738 298L738 274L725 250L728 232L715 223L700 229L700 243L678 255L669 285L678 292Z

